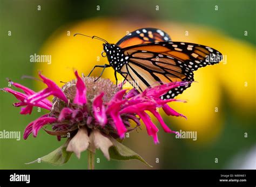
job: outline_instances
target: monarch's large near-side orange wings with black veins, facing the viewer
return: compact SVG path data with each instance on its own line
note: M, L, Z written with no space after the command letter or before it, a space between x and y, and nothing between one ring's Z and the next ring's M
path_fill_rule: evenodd
M221 53L213 48L186 42L154 42L126 47L122 51L129 57L122 71L128 73L127 80L136 84L140 92L152 85L193 81L194 70L222 59ZM173 98L188 87L190 84L170 90L161 98Z

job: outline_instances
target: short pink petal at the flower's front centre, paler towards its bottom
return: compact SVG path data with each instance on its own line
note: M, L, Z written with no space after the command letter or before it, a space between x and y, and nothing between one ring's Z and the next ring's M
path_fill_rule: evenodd
M106 109L102 100L103 96L104 93L100 93L100 95L96 96L96 98L93 100L92 104L93 114L101 126L105 126L107 123Z

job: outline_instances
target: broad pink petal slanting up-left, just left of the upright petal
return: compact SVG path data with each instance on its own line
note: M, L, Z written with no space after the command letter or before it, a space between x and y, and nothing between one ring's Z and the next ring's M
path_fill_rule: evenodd
M55 82L51 81L49 78L44 77L41 73L39 73L39 76L42 78L43 82L48 86L48 88L46 88L45 90L51 93L50 95L58 97L59 99L62 99L64 102L68 103L68 99L66 98L62 89L60 89L58 85L55 84Z

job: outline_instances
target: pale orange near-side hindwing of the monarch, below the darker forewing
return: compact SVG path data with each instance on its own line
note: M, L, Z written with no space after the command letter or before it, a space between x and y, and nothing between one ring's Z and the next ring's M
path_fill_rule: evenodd
M129 62L126 66L123 66L122 71L129 74L127 80L132 85L136 85L137 83L137 89L139 91L163 83L193 81L192 70L185 66L184 68L180 67L179 62L178 59L167 55L133 51L130 55ZM182 90L185 89L181 89L179 93Z

